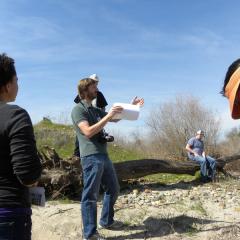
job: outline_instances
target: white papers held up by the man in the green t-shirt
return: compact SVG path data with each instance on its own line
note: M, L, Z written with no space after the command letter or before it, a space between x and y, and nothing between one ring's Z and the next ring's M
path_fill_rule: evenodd
M113 119L137 120L140 113L140 106L128 103L114 103L113 106L121 106L123 111L116 114Z

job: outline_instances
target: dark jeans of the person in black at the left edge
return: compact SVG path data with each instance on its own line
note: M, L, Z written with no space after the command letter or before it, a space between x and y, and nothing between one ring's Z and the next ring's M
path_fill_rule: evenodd
M31 215L0 217L0 240L31 240Z

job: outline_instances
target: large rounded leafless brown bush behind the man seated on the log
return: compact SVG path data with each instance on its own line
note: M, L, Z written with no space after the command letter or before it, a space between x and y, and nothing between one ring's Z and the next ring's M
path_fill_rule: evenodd
M211 109L202 106L195 97L180 95L154 107L146 125L151 133L149 149L157 156L183 159L186 157L187 141L199 129L206 133L206 152L215 155L218 151L220 121Z

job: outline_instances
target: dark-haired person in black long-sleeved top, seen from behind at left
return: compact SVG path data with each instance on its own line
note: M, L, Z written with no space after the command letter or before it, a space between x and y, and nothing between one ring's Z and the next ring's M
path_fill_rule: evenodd
M14 102L18 78L14 60L0 54L0 239L31 239L29 187L41 164L28 113Z

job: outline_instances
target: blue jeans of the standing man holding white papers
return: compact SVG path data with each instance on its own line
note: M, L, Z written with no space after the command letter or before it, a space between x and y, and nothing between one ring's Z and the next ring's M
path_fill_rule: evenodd
M97 199L100 184L104 189L103 208L100 218L102 226L114 222L114 204L119 193L115 169L107 154L92 154L81 158L83 169L82 221L85 238L97 229Z

